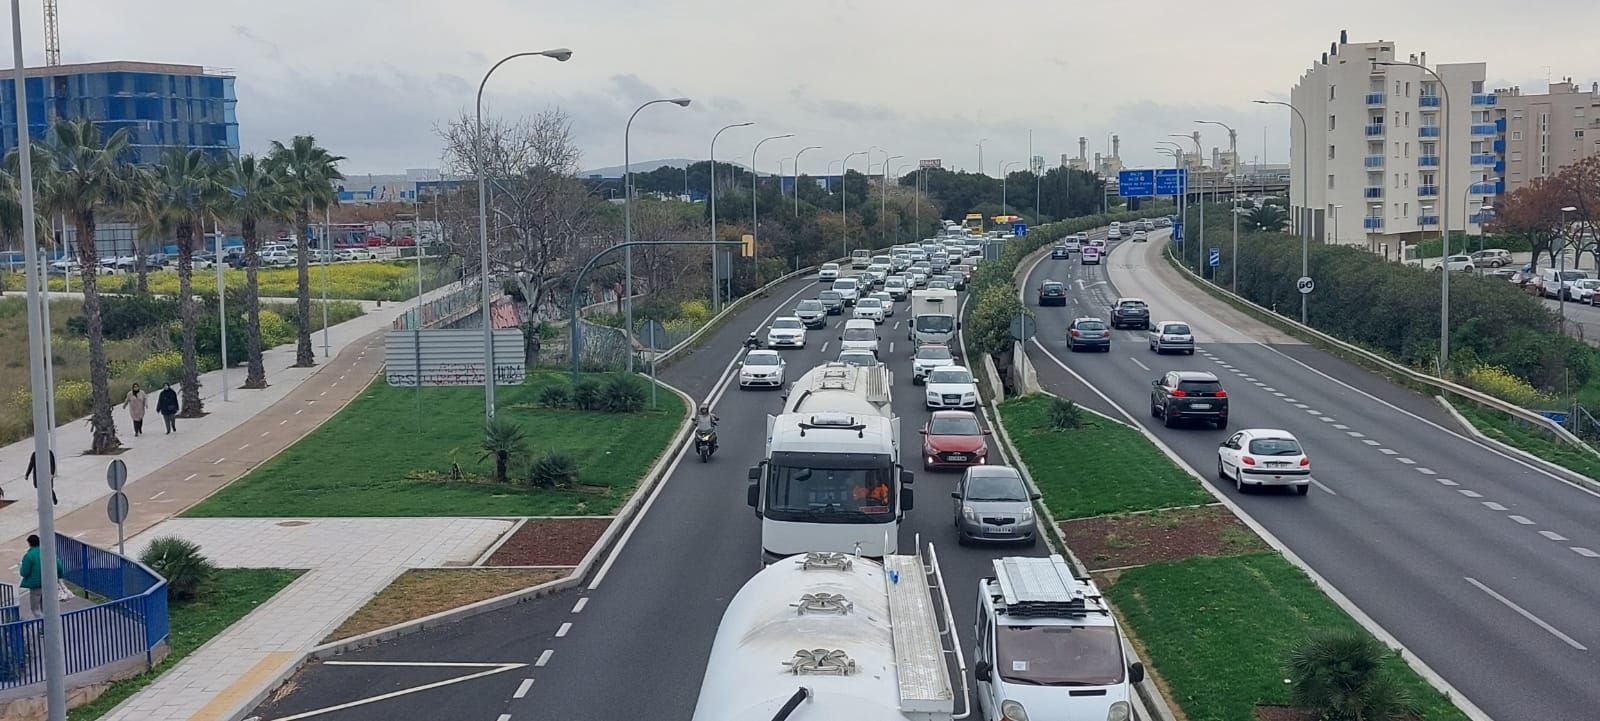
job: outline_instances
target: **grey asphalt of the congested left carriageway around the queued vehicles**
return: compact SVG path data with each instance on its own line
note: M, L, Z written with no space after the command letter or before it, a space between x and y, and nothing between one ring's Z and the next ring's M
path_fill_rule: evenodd
M779 286L661 374L690 395L712 400L722 417L720 451L709 464L680 456L622 545L586 585L344 654L341 663L312 665L282 699L254 713L264 721L398 716L506 721L506 715L514 721L688 719L723 609L760 568L760 521L746 505L746 472L762 457L766 414L782 406L778 392L741 392L736 382L718 380L739 357L749 331L765 331L773 315L787 315L797 301L824 288L814 277ZM989 561L1000 555L1043 553L1045 547L955 544L949 494L958 475L925 473L917 462L918 430L928 414L922 387L910 382L907 307L898 304L896 310L882 326L882 349L894 371L901 448L909 449L906 465L917 475L917 505L901 528L901 544L909 548L918 534L923 544L936 544L963 649L970 651L973 585L990 572ZM790 379L837 357L842 325L840 317L832 317L826 331L810 331L805 349L784 350ZM771 659L774 668L781 660ZM494 671L491 663L522 667ZM405 692L472 673L485 675ZM360 703L397 692L405 694Z

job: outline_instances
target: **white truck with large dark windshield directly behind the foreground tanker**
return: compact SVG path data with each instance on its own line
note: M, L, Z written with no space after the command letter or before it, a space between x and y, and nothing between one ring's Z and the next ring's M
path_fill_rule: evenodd
M762 520L762 560L806 552L894 553L912 508L886 366L824 363L766 417L766 456L746 500Z

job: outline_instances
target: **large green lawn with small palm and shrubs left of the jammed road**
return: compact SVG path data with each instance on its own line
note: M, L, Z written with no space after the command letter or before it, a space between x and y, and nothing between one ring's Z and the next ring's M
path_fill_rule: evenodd
M245 478L189 508L189 516L539 516L608 515L634 491L683 419L677 393L632 414L550 409L539 392L568 384L562 372L531 372L496 388L501 417L522 424L534 456L578 462L578 488L496 484L480 462L483 388L392 388L376 379L320 428ZM646 401L648 403L648 401ZM448 478L451 456L466 480ZM514 480L518 464L512 467ZM525 467L525 464L522 464Z

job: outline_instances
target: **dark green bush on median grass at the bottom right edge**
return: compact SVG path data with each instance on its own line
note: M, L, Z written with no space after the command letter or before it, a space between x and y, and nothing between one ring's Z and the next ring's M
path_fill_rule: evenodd
M1358 631L1325 631L1290 652L1294 705L1325 721L1411 718L1411 699L1384 671L1389 657L1376 638Z

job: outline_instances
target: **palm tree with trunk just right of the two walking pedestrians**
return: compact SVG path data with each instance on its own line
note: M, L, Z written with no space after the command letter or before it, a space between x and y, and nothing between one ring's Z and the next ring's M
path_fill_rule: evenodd
M205 221L218 214L222 201L221 171L221 163L205 150L173 147L162 153L158 165L141 173L147 177L146 192L141 193L141 216L154 217L157 225L170 227L178 241L178 307L182 318L184 357L179 393L184 417L205 414L195 353L194 253L197 241L205 243Z

